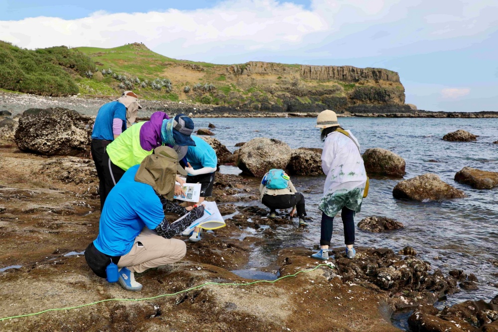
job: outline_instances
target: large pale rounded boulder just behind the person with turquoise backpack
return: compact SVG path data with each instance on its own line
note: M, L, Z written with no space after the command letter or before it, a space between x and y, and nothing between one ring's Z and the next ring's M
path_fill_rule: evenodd
M272 168L285 169L291 155L291 148L278 139L253 138L240 148L237 166L244 173L260 177Z

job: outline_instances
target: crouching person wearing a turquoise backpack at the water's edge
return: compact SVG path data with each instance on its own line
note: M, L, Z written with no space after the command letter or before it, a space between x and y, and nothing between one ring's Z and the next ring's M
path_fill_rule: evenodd
M290 216L294 217L297 212L299 225L308 225L304 221L304 216L306 216L304 196L296 191L289 176L283 170L270 169L261 180L259 193L261 203L270 209L270 218L276 217L276 209L292 208Z

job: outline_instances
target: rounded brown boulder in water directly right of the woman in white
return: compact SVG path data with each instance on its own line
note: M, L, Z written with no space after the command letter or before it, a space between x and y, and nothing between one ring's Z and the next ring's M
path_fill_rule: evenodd
M403 158L379 147L367 149L363 154L363 162L369 176L388 175L402 177L406 173L406 163Z

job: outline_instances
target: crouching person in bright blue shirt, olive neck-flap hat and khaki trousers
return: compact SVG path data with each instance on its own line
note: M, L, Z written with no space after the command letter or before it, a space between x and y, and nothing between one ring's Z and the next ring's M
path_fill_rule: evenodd
M85 251L85 259L99 277L106 278L111 262L118 265L124 289L140 291L134 272L179 261L185 242L172 238L204 214L204 206L187 209L172 202L175 178L187 175L170 147L160 146L130 167L107 197L100 218L99 235ZM188 215L168 222L165 213Z

